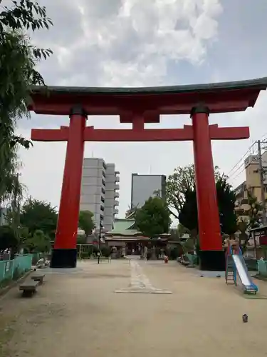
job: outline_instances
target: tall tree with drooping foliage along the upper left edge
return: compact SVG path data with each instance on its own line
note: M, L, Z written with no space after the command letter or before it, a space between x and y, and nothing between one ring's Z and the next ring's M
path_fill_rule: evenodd
M28 29L48 29L52 24L46 8L31 0L12 0L10 4L0 12L0 203L13 194L18 146L31 146L30 141L16 136L15 129L17 121L28 116L29 87L44 84L36 62L52 53L33 46L26 36Z

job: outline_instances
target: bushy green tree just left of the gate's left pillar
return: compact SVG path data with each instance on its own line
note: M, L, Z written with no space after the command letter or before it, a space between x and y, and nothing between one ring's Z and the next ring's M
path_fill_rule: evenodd
M21 208L21 226L27 227L31 236L37 230L43 231L46 236L54 238L58 213L51 203L28 198Z

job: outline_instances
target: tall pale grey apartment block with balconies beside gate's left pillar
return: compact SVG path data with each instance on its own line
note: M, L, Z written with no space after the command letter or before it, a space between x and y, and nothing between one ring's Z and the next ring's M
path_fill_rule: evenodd
M98 158L83 159L80 211L93 213L97 231L100 221L103 221L105 231L110 231L115 214L118 213L118 174L115 164L105 164L103 159Z

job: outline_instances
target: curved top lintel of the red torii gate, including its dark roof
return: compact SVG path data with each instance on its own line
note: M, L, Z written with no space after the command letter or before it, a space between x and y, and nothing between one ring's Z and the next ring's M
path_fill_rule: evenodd
M267 77L141 88L33 86L28 109L36 114L68 115L80 104L88 115L119 115L122 123L142 115L145 123L158 123L160 115L190 114L199 103L208 106L210 113L244 111L254 106L266 88Z

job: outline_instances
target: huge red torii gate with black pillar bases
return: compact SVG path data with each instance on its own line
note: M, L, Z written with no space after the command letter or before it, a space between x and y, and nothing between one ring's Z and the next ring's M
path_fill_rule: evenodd
M68 141L51 267L76 266L76 237L85 141L193 141L199 219L200 261L204 270L224 270L211 140L249 137L248 127L209 125L210 113L244 111L254 106L267 78L251 81L132 89L35 86L29 110L69 115L70 126L32 129L33 141ZM183 129L145 129L161 114L190 114ZM119 115L132 129L94 129L88 115Z

